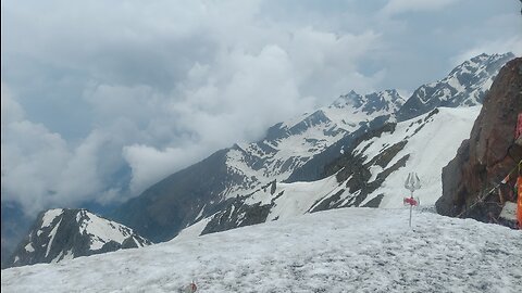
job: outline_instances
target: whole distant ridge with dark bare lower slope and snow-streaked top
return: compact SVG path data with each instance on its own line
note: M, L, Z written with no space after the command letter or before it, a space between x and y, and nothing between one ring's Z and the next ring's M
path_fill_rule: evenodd
M227 200L286 180L296 169L353 131L382 125L403 104L395 90L350 92L332 105L271 127L264 139L221 150L171 175L124 204L116 218L152 241L213 215Z

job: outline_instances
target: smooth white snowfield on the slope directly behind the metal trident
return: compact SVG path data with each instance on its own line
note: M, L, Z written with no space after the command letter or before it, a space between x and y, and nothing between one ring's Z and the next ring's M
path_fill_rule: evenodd
M369 141L368 143L372 142L372 144L364 150L368 161L375 157L386 145L389 146L403 140L408 140L408 143L389 162L388 166L406 154L410 154L410 157L406 167L389 175L381 188L370 194L362 204L377 194L384 194L380 207L401 206L402 199L410 195L403 187L405 180L409 173L415 171L422 183L422 188L415 191L415 196L420 198L422 205L434 205L443 194L443 167L455 157L462 141L470 137L481 107L439 107L439 113L430 118L427 118L430 114L425 114L402 122L397 125L394 133L383 133L380 138ZM413 135L415 129L421 126L414 123L426 118L427 123ZM362 150L368 143L362 143L358 150Z

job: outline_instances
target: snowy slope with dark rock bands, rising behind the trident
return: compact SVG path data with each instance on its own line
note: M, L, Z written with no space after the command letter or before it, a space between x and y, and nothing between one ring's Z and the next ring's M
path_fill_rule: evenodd
M273 180L252 193L229 199L198 227L210 233L337 207L399 207L409 195L403 182L410 171L418 173L422 182L415 195L423 205L434 205L443 192L442 169L469 136L480 110L443 107L386 124L344 150L330 164L324 179Z

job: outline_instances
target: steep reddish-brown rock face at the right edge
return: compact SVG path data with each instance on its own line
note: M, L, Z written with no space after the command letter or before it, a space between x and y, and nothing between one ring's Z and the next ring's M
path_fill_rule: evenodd
M522 148L514 144L519 113L522 113L521 58L500 69L484 99L470 139L462 142L457 156L443 169L443 196L436 203L439 214L483 221L498 216L502 201L498 191L485 194L522 158ZM513 200L507 194L508 187L502 191L504 200ZM484 201L478 201L483 198Z

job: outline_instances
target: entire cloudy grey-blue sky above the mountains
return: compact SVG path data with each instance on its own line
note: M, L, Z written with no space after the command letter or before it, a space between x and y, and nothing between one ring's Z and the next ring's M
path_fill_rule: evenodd
M124 201L355 89L522 54L519 0L1 2L1 191ZM405 97L408 98L408 97Z

